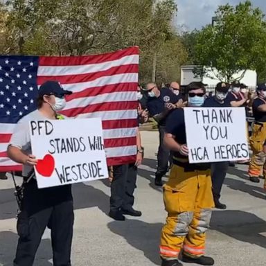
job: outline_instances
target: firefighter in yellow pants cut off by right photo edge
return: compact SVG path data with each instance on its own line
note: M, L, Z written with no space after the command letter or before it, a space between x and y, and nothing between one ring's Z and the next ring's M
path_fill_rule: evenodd
M260 84L257 87L258 97L252 105L254 123L252 125L252 134L249 139L251 150L253 152L249 163L249 179L252 182L259 183L260 172L263 168L263 177L266 177L266 154L263 152L263 143L266 139L266 84Z

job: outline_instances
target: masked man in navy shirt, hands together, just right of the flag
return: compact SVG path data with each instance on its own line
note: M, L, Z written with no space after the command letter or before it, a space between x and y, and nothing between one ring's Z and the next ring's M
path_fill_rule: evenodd
M170 151L163 145L163 136L165 134L166 118L168 114L177 107L181 107L183 100L181 96L175 95L170 89L159 90L155 83L148 83L147 108L150 116L154 118L159 127L159 149L157 154L157 171L155 173L155 185L162 186L162 177L168 171L168 161Z

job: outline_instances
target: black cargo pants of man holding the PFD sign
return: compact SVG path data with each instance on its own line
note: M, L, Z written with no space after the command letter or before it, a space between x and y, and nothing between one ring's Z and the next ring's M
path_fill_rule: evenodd
M19 242L15 266L33 265L46 226L51 229L53 265L71 265L73 198L71 185L37 188L31 179L24 188L22 211L17 220Z

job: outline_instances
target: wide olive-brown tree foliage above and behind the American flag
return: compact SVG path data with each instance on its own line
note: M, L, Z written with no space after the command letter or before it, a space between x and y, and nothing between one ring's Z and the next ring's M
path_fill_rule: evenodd
M177 79L186 60L172 27L174 0L10 0L1 10L3 54L88 55L139 46L143 82L151 79L154 53L157 81Z

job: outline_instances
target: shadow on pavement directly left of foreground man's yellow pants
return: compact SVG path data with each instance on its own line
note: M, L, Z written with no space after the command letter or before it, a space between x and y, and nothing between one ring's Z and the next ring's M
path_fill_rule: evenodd
M143 254L154 265L160 265L159 239L163 224L148 224L140 220L125 220L125 222L109 222L110 231L122 236L135 249Z

